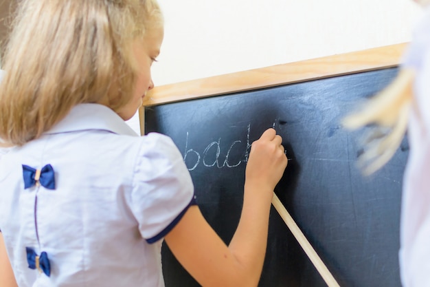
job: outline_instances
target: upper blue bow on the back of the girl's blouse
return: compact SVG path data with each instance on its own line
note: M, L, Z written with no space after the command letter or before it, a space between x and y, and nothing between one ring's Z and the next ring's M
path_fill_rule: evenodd
M33 169L23 164L24 189L34 184L41 184L47 189L55 189L54 169L51 164L46 164L42 169Z

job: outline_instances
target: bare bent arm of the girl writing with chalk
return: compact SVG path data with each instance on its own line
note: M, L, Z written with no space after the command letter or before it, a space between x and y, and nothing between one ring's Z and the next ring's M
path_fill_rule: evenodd
M191 206L165 240L183 267L202 286L257 286L267 247L273 189L287 159L282 138L268 129L253 142L247 163L240 222L229 246Z

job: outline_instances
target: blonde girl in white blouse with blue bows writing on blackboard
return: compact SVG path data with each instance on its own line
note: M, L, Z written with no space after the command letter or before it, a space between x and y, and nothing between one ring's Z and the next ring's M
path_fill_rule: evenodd
M253 142L226 246L172 140L124 123L153 87L156 1L19 3L0 85L0 286L163 286L163 239L201 285L257 286L282 138Z

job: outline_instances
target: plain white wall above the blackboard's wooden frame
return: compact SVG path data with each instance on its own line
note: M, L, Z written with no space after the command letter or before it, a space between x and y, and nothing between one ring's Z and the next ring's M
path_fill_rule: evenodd
M421 12L411 0L159 3L165 37L155 85L407 42Z

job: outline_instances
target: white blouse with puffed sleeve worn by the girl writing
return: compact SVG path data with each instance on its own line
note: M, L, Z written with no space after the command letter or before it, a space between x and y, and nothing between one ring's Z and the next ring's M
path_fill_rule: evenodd
M24 189L21 164L52 164L56 190ZM102 105L78 105L0 159L0 228L20 287L164 286L158 239L193 196L172 140L139 137ZM27 267L26 246L47 252L51 277Z

